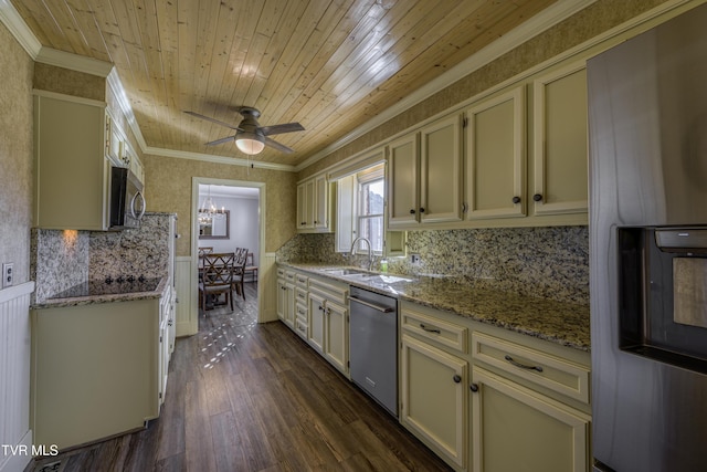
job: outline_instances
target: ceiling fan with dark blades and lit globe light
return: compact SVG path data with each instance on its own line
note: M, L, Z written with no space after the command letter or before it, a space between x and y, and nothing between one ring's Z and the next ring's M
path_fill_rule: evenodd
M196 112L184 113L191 116L196 116L197 118L205 119L218 125L225 126L226 128L235 129L235 135L226 136L224 138L207 143L207 146L214 146L218 144L228 143L230 140L235 140L235 145L238 146L238 148L241 151L250 155L260 154L265 148L265 146L270 146L274 149L279 150L281 153L294 153L292 148L288 148L287 146L268 138L268 136L279 135L283 133L304 132L305 128L299 123L283 123L279 125L261 126L257 123L257 118L261 116L261 112L258 109L250 106L240 106L236 111L243 116L243 119L241 119L241 123L238 126L229 125L228 123L201 115Z

